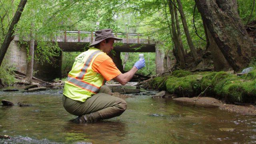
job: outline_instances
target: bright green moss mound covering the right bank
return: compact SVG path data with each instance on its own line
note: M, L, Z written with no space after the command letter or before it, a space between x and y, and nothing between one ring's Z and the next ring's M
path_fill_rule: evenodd
M148 88L166 90L179 97L211 96L226 102L254 103L256 101L256 70L243 76L227 72L187 72L156 77Z

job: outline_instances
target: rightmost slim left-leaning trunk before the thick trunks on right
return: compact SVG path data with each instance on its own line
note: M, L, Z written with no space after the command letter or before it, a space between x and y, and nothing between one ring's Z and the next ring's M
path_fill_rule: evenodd
M197 54L196 48L195 48L195 46L192 42L192 38L189 34L188 25L187 25L187 22L186 22L185 14L183 12L182 4L181 4L180 0L177 0L177 3L178 3L178 7L179 7L180 17L181 17L181 20L182 20L182 25L183 25L183 28L184 28L184 32L186 34L186 38L187 38L187 41L188 41L188 46L190 48L192 57L194 58L195 61L197 61L198 54Z

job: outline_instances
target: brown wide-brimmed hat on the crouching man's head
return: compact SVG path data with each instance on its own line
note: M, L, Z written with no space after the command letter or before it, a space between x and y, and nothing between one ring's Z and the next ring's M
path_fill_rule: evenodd
M94 42L92 42L89 47L92 47L95 44L100 43L102 40L106 40L107 38L114 38L115 40L122 40L122 38L115 37L110 28L98 30L95 32Z

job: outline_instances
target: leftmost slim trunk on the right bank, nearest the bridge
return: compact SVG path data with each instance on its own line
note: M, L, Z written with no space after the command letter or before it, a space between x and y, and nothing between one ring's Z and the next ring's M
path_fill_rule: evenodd
M172 18L172 36L173 36L173 40L174 40L174 45L178 50L178 56L179 56L179 60L180 60L180 68L183 69L183 68L185 68L185 59L184 59L184 55L182 54L180 43L178 41L178 36L177 36L175 21L174 21L174 9L173 9L173 4L172 4L171 0L168 0L168 5L169 5L171 18Z

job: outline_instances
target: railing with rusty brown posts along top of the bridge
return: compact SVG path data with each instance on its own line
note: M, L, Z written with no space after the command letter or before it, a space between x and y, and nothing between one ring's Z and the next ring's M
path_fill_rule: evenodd
M89 32L89 31L76 31L76 30L59 30L58 33L64 33L64 42L67 42L67 34L73 34L73 33L77 33L77 42L82 42L81 41L81 34L90 34L90 42L93 42L94 40L94 34L95 32ZM138 33L114 33L115 36L117 37L118 35L121 35L121 36L126 36L126 39L123 39L123 40L126 40L126 42L124 43L127 43L129 44L129 36L137 36L137 44L140 44L141 43L141 40L144 41L143 43L147 43L147 44L150 44L150 39L149 37L147 38L140 38L140 36L143 36L143 34L138 34ZM145 42L145 40L147 42ZM134 41L133 41L134 43Z

